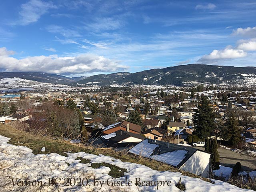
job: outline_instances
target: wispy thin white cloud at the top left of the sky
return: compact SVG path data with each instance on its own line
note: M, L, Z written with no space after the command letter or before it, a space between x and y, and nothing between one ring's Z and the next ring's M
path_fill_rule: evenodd
M49 9L56 8L52 2L42 2L41 0L30 0L21 5L20 21L16 24L28 25L38 21L40 17L48 12Z

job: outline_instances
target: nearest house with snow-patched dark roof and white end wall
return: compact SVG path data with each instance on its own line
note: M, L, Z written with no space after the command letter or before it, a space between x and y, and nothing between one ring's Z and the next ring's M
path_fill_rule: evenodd
M208 177L210 171L211 154L196 148L145 139L129 152L203 177Z

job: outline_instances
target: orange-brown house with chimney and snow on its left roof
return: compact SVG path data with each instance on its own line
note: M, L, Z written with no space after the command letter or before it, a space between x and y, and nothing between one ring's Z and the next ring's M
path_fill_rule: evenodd
M110 134L110 133L116 132L117 130L124 130L124 131L127 131L127 132L140 134L141 126L124 120L122 122L114 123L112 125L107 126L103 130L103 134Z

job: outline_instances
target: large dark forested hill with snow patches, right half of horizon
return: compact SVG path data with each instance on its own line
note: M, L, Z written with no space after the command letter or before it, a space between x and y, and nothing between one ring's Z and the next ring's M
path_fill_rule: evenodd
M133 73L118 83L189 86L198 83L254 84L255 81L255 67L188 64Z

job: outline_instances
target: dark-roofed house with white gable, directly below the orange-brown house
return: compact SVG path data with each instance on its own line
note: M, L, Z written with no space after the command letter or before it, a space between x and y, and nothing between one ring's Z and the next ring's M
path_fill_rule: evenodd
M140 143L145 137L140 134L117 130L113 133L100 136L100 139L107 147L126 147Z

